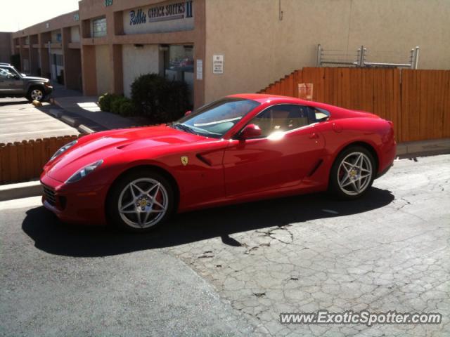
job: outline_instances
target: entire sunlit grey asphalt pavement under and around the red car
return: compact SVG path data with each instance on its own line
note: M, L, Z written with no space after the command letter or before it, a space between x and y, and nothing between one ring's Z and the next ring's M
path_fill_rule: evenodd
M450 155L364 197L177 216L134 235L0 203L1 336L449 336ZM282 325L280 312L440 312L439 325Z

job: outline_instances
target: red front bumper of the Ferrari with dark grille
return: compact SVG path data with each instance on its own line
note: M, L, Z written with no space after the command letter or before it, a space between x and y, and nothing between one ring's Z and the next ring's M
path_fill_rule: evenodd
M68 187L46 174L41 176L42 204L67 223L105 225L105 199L108 186Z

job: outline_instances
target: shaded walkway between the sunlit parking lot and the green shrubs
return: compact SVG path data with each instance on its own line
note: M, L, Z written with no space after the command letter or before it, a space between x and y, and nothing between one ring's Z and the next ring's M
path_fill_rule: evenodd
M79 91L56 84L51 99L63 111L56 109L50 113L84 133L136 126L132 119L101 111L97 96L83 96Z

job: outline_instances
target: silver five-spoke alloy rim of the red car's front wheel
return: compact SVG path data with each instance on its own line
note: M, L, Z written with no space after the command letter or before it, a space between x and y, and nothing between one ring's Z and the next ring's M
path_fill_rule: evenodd
M117 204L120 217L131 227L152 227L167 212L169 204L167 195L167 190L158 180L136 179L120 193Z

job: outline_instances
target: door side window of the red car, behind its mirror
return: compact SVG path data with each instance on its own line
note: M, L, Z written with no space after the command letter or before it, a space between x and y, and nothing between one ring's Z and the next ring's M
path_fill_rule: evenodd
M249 124L259 126L262 137L268 137L276 131L290 131L307 126L310 121L307 107L283 104L274 105L260 112Z

